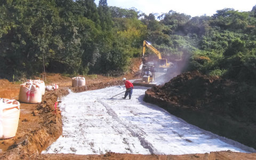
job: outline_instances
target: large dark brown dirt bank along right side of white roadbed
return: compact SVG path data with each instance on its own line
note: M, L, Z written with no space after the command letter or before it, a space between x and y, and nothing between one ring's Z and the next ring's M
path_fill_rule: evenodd
M245 94L245 86L193 71L147 90L145 101L190 124L256 148L256 99L254 94Z

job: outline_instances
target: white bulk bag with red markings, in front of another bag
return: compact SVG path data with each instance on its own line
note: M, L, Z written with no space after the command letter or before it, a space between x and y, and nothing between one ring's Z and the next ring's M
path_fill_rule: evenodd
M42 101L42 93L36 84L23 83L20 85L19 101L25 103L39 103Z

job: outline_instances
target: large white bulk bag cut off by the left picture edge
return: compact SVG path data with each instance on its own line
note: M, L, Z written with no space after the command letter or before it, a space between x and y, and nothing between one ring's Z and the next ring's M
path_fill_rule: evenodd
M0 139L15 136L20 117L20 103L17 100L0 98Z

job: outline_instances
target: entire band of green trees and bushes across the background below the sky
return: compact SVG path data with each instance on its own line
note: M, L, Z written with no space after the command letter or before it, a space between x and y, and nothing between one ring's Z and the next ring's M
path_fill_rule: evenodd
M186 70L253 83L256 6L218 10L212 17L170 11L146 15L100 0L1 0L0 77L44 71L120 75L140 57L146 39Z

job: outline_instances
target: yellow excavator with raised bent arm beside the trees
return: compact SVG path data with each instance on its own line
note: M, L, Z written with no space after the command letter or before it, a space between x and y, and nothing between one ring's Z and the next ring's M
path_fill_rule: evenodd
M153 47L150 43L148 43L147 41L143 41L143 50L142 50L142 62L143 64L145 64L145 58L144 58L144 54L146 51L146 47L148 47L151 51L153 51L157 57L158 57L158 62L157 62L157 70L158 71L164 71L164 70L168 70L171 68L174 68L174 64L173 63L167 63L167 59L163 59L162 55L159 51L157 51L157 49L155 49L155 47Z

